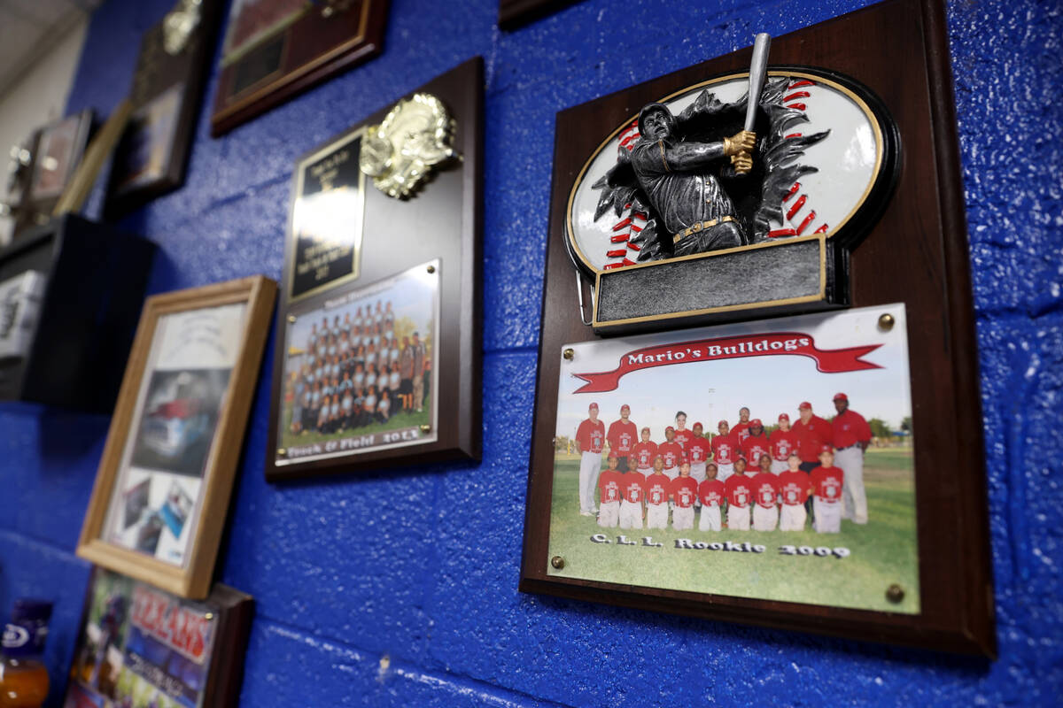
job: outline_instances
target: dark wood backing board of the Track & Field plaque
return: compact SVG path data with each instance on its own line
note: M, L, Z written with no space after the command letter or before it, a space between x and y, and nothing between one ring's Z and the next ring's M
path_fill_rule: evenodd
M482 453L482 229L483 229L483 115L484 63L474 57L410 91L429 93L445 105L454 121L453 149L461 155L435 171L422 189L405 200L387 196L371 178L364 179L364 224L356 262L350 273L325 287L293 290L296 269L293 222L286 235L284 277L277 307L277 335L273 361L272 401L266 479L298 480L320 474L357 473L395 465L449 461L478 461ZM400 100L401 101L401 100ZM398 102L396 102L398 103ZM351 144L368 126L378 124L394 104L382 107L365 121L308 151L298 165L326 156L334 146ZM356 157L351 158L356 159ZM292 202L300 196L299 172ZM433 239L420 237L433 224ZM410 273L427 273L438 280L438 328L429 396L438 401L436 424L423 441L396 446L367 447L333 456L292 456L279 431L284 416L288 332L298 317L328 303ZM320 316L320 315L319 315ZM444 375L445 374L445 375ZM435 404L435 403L434 403ZM284 451L284 454L282 454Z

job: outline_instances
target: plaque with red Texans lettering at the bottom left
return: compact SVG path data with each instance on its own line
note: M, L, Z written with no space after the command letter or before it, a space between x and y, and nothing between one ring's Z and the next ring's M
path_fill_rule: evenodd
M231 706L253 612L250 595L224 585L195 602L95 568L63 706Z

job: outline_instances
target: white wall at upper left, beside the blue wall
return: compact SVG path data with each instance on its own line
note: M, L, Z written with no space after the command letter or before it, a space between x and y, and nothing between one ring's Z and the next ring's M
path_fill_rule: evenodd
M7 198L7 149L35 128L63 117L81 48L88 28L86 16L38 61L21 80L0 96L0 200ZM0 217L0 244L11 239L12 223Z

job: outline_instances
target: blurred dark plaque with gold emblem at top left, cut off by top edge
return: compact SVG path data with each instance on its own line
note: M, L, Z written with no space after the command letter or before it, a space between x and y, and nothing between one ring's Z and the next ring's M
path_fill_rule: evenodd
M175 0L145 34L115 150L105 210L114 219L184 184L223 0Z

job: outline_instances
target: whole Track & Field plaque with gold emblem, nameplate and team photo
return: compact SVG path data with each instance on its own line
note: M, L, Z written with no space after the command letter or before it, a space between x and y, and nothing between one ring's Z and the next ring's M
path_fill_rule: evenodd
M482 85L467 62L299 161L268 479L479 457Z

